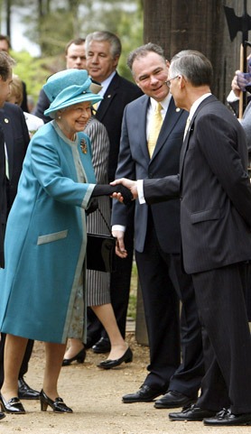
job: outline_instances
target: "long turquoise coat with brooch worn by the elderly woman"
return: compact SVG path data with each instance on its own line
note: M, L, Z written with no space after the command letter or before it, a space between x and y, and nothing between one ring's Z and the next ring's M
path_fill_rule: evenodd
M72 143L53 125L33 135L8 217L0 330L64 343L85 260L85 209L96 179L88 136L79 133Z

